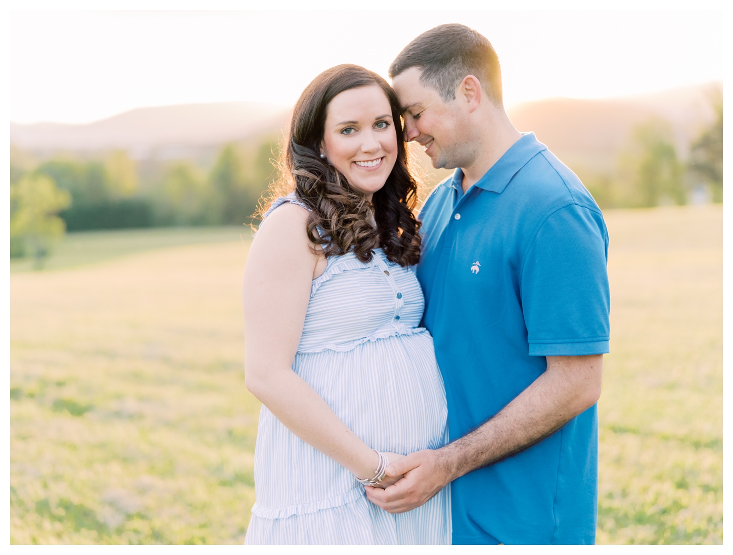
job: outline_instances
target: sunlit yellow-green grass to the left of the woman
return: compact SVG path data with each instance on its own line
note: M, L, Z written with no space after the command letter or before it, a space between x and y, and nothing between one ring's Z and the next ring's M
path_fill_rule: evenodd
M12 543L243 542L245 257L236 236L11 276Z

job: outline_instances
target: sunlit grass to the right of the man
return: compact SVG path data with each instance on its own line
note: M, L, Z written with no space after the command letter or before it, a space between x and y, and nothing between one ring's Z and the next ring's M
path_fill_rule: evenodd
M610 210L599 543L723 541L723 210Z

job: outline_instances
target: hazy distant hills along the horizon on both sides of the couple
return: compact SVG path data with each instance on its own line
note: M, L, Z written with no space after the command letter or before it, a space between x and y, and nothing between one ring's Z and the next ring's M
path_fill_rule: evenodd
M721 84L601 100L550 98L509 110L520 131L539 141L578 173L613 171L633 128L658 116L674 130L685 157L700 128L715 117L711 95ZM229 141L279 133L290 109L270 103L212 103L141 108L88 125L10 124L10 142L35 152L122 149L133 158L186 158ZM424 154L421 162L430 168ZM447 172L430 169L435 177Z

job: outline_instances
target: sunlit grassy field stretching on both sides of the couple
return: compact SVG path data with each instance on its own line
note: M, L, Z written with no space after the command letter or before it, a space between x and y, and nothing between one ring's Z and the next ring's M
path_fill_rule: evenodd
M606 218L598 542L721 543L721 207ZM239 234L70 235L47 270L13 265L12 543L243 541Z

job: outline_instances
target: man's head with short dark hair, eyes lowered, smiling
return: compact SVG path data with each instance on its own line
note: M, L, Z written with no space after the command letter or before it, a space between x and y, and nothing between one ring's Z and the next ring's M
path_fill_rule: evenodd
M501 69L486 37L457 23L437 26L405 46L389 76L407 140L423 144L436 168L470 166L479 114L504 112Z

